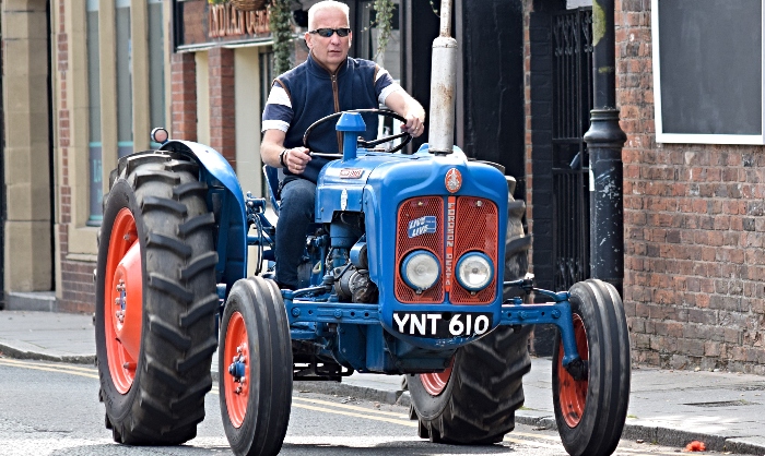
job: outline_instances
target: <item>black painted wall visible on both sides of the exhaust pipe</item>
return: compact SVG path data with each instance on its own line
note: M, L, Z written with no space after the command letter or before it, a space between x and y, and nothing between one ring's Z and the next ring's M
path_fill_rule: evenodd
M427 111L431 48L439 19L429 2L402 0L403 85ZM439 5L438 1L434 4ZM470 157L505 166L523 199L523 16L520 0L455 0L458 69L456 144ZM426 134L414 147L427 142Z

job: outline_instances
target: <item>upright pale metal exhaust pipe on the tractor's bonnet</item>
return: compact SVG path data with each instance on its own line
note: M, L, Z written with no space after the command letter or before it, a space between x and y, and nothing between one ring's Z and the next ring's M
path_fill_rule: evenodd
M431 70L428 147L433 154L451 154L457 85L457 40L451 37L451 0L440 2L440 32L433 40Z

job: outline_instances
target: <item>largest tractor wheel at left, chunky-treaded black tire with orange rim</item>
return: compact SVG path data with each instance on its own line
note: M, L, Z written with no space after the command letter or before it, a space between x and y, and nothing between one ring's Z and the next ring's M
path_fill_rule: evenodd
M128 157L99 233L96 353L116 442L175 445L197 435L215 351L213 215L198 166Z

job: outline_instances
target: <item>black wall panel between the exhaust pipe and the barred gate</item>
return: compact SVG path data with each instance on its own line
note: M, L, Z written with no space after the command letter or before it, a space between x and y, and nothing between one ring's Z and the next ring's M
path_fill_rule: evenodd
M495 161L526 195L523 147L523 10L520 0L462 0L460 146L470 157Z

